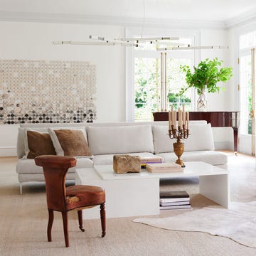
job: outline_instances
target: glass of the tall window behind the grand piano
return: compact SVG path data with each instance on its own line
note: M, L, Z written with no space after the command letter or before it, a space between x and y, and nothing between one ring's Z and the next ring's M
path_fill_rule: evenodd
M145 37L152 38L154 36L144 35L144 38ZM138 38L140 38L140 36L138 36ZM180 44L181 46L182 44L192 45L193 37L178 38L178 41L171 42L175 43L175 45ZM161 42L161 46L159 47L169 46L169 43L170 41ZM186 102L186 110L192 110L191 92L186 92L186 95L181 98L175 97L175 94L185 83L185 75L181 74L180 65L191 65L191 63L193 63L194 55L192 51L171 50L168 55L171 55L172 59L167 58L166 60L165 56L161 55L161 52L156 49L155 43L144 42L142 45L144 46L142 48L133 48L134 110L132 110L132 117L134 117L134 121L153 120L153 112L159 112L163 109L168 110L170 107L169 100L173 103L175 102L177 106ZM161 58L161 56L163 58ZM166 81L164 70L161 70L161 68L165 66L165 60L167 68ZM161 61L163 63L161 63ZM162 78L161 74L163 75ZM161 81L161 79L163 80Z

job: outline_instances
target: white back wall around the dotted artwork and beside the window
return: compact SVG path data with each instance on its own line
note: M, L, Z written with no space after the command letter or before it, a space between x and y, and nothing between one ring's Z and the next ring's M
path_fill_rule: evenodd
M122 46L54 46L52 41L89 41L89 35L117 38L123 26L0 22L1 59L82 60L96 65L97 122L125 121L125 48ZM202 30L201 45L227 45L225 30ZM202 50L201 58L228 63L227 50ZM231 82L232 83L232 82ZM230 85L228 85L230 86ZM232 90L231 90L232 91ZM208 110L233 110L230 89L208 97ZM231 96L232 97L232 96ZM231 102L231 103L230 103ZM16 155L18 125L0 125L0 156ZM233 142L232 131L214 130L216 142Z

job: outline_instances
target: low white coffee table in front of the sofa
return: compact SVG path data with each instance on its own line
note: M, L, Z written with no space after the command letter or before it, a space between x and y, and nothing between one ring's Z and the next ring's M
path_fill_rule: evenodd
M201 161L186 162L182 172L115 174L110 165L76 169L76 184L101 186L106 192L107 218L159 214L159 179L199 177L199 193L228 208L228 171ZM87 209L84 218L100 218L98 208Z

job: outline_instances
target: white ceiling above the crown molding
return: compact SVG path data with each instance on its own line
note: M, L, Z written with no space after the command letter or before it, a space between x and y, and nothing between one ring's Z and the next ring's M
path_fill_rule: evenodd
M0 19L61 21L206 21L228 24L256 16L255 0L0 0ZM46 20L47 21L47 20Z

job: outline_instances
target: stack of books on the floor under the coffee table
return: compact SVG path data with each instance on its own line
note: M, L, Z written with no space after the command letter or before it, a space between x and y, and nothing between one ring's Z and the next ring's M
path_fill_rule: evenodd
M161 191L160 210L189 209L190 197L186 191Z

